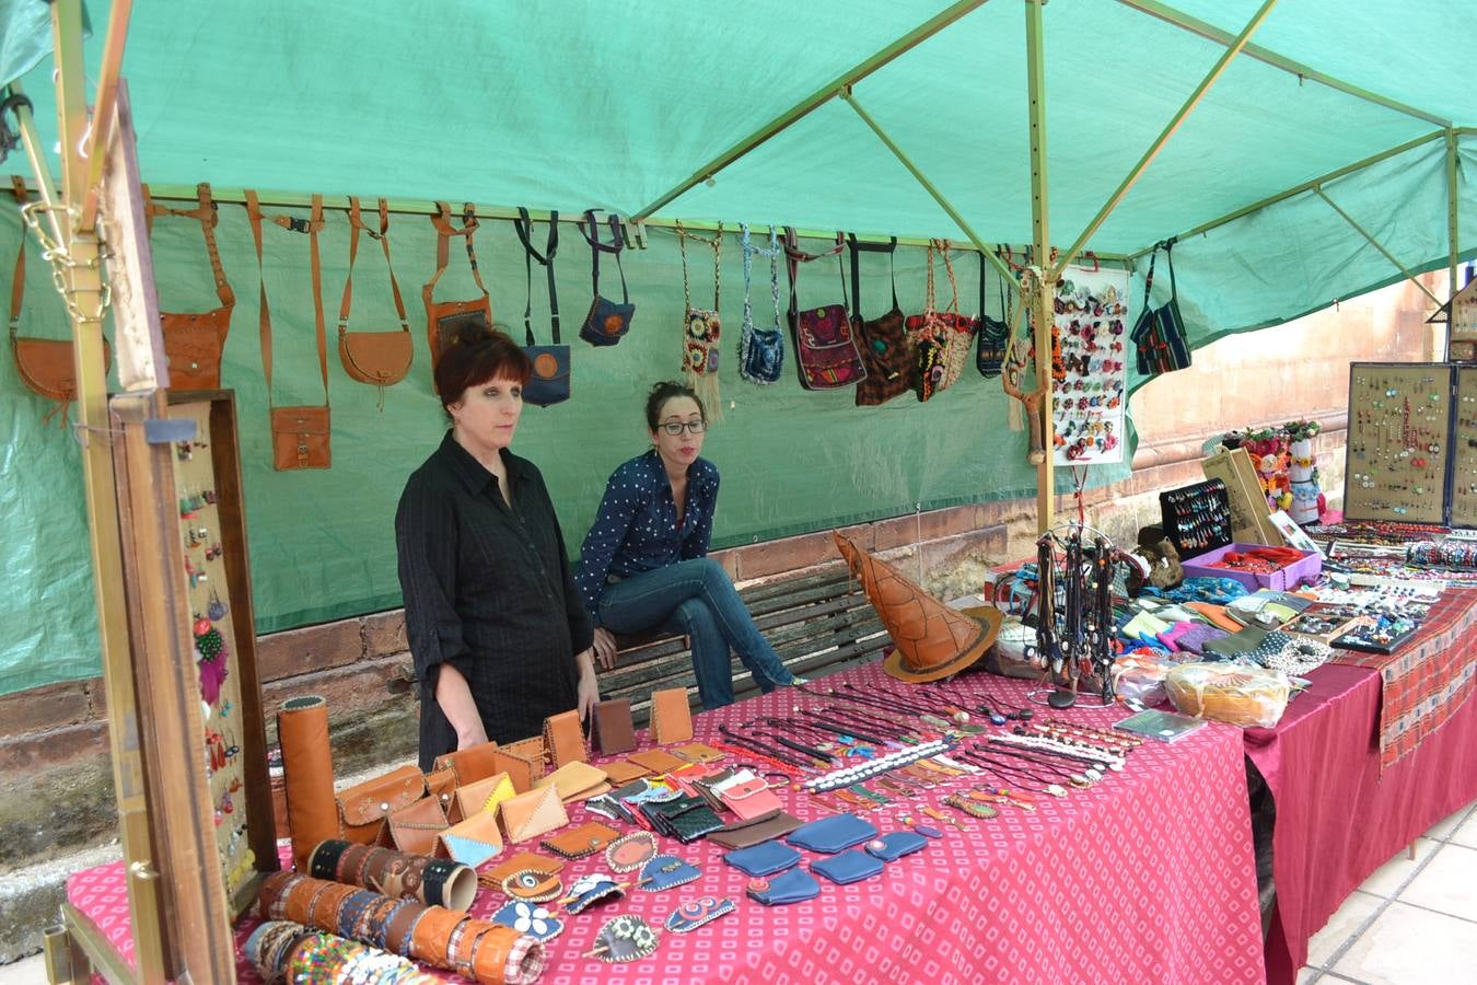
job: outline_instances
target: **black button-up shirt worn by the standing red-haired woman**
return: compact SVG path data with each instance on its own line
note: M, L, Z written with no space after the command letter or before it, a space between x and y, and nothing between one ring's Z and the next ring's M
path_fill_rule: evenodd
M394 540L405 629L421 682L421 769L456 749L436 701L449 663L471 688L487 738L539 735L578 704L575 654L592 629L564 538L533 462L502 452L513 507L450 433L405 484Z

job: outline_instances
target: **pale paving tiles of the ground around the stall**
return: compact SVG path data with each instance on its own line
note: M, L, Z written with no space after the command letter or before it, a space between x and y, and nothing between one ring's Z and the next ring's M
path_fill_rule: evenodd
M1477 802L1402 851L1309 942L1298 985L1477 982ZM0 966L0 985L44 985L41 957ZM1171 984L1173 985L1173 984Z

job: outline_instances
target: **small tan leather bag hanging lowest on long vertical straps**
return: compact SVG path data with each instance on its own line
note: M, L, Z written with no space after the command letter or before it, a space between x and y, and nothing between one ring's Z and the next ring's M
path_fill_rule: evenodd
M267 409L272 415L272 468L291 471L298 468L329 468L329 413L328 413L328 341L323 331L323 266L318 253L318 233L323 227L323 196L313 195L309 219L295 216L267 216L261 211L257 193L247 192L247 217L251 220L251 239L257 248L257 273L261 284L261 371L267 384ZM261 220L267 219L282 229L306 233L313 273L313 329L318 335L318 369L323 380L322 405L297 405L279 408L272 403L272 307L267 303L267 282L261 263Z

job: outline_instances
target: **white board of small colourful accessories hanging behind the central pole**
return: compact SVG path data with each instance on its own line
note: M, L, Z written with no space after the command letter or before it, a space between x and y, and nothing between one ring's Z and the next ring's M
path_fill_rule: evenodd
M1056 285L1052 418L1058 465L1123 461L1128 272L1068 267Z

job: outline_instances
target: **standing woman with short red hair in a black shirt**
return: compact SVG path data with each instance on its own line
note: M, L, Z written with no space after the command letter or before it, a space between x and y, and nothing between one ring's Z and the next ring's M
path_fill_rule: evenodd
M538 735L600 697L589 617L533 462L508 450L529 359L501 331L453 334L436 365L450 431L394 517L405 629L421 685L421 769Z

